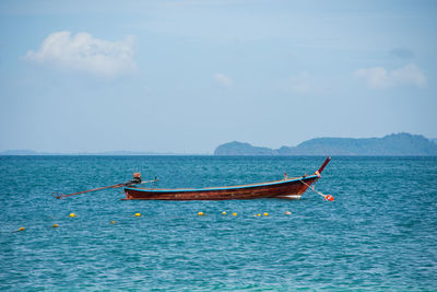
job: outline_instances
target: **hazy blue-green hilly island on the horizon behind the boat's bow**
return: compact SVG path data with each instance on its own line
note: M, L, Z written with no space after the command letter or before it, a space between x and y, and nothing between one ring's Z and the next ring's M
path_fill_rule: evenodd
M382 138L315 138L280 149L234 141L218 145L214 155L437 156L437 139L402 132Z

